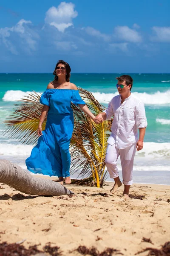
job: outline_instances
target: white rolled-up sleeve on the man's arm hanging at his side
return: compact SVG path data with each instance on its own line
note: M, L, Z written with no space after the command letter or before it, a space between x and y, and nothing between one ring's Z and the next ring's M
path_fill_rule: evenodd
M136 125L138 128L145 128L147 127L147 119L146 119L146 113L144 109L144 103L139 102L139 104L136 106Z

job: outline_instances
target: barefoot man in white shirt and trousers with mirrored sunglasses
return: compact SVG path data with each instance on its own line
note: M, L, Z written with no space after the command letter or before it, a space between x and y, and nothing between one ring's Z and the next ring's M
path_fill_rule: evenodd
M123 75L116 79L118 80L116 87L119 95L113 97L108 108L99 113L94 121L99 123L103 120L111 120L111 117L114 116L105 162L110 177L115 181L111 189L111 192L115 193L118 187L122 186L117 169L117 159L120 156L123 184L125 185L123 195L128 197L130 185L133 183L133 160L136 150L139 151L143 148L147 121L143 102L130 93L133 85L131 76Z

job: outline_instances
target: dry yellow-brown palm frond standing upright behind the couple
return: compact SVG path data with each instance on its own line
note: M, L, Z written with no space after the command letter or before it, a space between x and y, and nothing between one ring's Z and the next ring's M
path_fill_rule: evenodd
M92 93L82 88L79 88L79 93L95 116L105 109ZM20 143L37 143L37 128L42 111L39 101L40 95L33 92L15 104L13 113L4 121L8 126L5 131L7 137L17 139ZM80 176L85 177L85 181L88 178L100 187L105 179L105 154L112 121L96 125L79 106L72 104L72 108L74 131L70 143L71 173L79 172ZM45 123L46 119L42 130L45 129Z

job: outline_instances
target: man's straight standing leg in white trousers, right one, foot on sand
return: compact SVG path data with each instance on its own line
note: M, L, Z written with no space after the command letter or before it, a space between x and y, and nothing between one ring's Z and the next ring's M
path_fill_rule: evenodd
M120 149L120 160L122 165L122 177L125 189L123 195L128 197L130 185L133 184L133 161L136 153L136 144Z

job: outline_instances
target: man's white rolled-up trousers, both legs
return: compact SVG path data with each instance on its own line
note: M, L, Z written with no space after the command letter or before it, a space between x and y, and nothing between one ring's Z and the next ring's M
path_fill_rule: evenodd
M108 143L105 163L111 178L116 178L119 176L117 169L117 159L120 156L120 161L122 165L122 177L123 184L132 185L132 174L133 174L133 160L136 153L136 143L128 148L116 148L115 144L111 145Z

